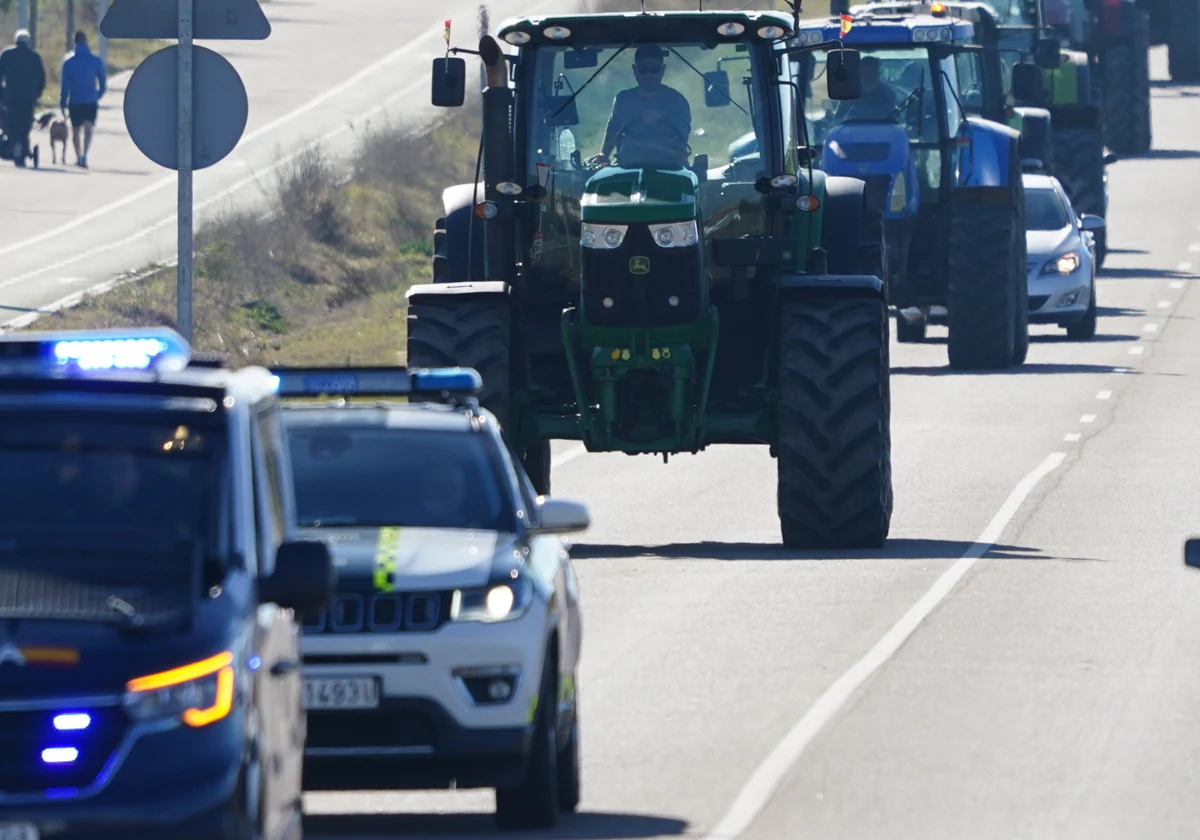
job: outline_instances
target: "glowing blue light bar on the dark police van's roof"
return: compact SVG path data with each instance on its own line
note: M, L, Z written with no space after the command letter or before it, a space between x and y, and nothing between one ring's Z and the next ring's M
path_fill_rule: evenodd
M0 334L0 371L182 370L192 348L166 328Z

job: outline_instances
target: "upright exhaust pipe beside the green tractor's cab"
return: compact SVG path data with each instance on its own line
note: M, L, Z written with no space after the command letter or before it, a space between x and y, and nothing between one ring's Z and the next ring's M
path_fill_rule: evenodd
M499 42L491 35L479 40L487 89L484 91L484 198L497 206L494 218L484 220L484 271L487 280L511 283L516 269L516 220L512 199L497 184L512 181L512 98L509 65Z

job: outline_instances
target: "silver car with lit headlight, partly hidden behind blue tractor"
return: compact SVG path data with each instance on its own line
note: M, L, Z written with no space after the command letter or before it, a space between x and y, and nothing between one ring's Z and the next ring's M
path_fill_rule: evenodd
M1022 175L1028 252L1030 323L1057 324L1067 336L1096 335L1096 240L1104 218L1076 215L1058 179Z

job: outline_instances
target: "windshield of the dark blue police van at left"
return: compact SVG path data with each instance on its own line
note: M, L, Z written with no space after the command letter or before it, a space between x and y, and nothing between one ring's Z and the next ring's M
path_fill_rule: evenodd
M152 618L194 601L227 520L224 432L191 420L0 412L0 617Z

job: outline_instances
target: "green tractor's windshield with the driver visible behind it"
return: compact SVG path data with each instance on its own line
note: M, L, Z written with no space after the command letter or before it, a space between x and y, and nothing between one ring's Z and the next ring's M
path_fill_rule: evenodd
M547 282L578 276L580 200L604 166L691 169L706 226L730 206L746 216L760 204L757 155L731 164L764 137L763 73L774 78L778 70L763 58L745 44L700 42L544 46L528 54L524 182L545 191L530 244L534 274ZM758 229L749 233L766 233L750 215Z

